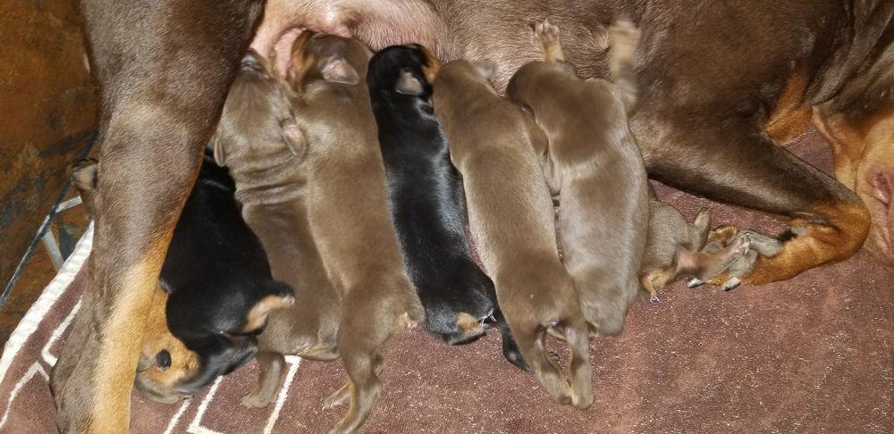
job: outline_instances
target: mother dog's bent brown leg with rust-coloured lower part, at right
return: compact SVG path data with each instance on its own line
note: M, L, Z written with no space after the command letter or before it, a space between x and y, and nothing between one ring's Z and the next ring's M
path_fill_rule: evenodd
M778 146L754 118L720 113L680 111L660 125L642 117L637 129L660 131L643 134L646 166L654 179L789 219L792 230L782 237L782 251L759 258L741 280L786 280L856 253L870 217L854 192Z

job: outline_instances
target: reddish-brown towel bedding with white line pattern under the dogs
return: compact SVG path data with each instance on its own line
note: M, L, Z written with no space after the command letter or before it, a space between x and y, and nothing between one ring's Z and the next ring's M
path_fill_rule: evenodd
M831 171L815 132L789 146ZM761 213L656 185L691 219L774 233ZM0 359L0 432L55 431L48 373L84 290L92 230L6 343ZM445 346L422 330L393 338L383 391L365 432L688 433L894 432L894 271L861 251L763 287L664 288L641 297L619 337L592 345L595 404L557 405L532 374L506 363L493 332ZM567 355L562 354L563 357ZM289 358L286 387L264 409L240 406L255 363L189 401L163 405L134 392L136 433L325 432L344 408L322 401L342 386L339 363Z

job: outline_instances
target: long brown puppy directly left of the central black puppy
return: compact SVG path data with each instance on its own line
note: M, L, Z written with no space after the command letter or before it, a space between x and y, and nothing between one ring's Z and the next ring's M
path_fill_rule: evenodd
M310 231L342 296L337 346L348 383L325 407L350 398L333 432L357 430L379 394L381 348L423 321L388 212L382 154L366 86L366 46L305 32L291 52L287 80L297 93L299 153L305 153Z

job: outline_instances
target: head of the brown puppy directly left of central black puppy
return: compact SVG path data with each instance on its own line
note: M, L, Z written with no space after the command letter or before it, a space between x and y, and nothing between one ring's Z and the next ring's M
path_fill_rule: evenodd
M286 79L296 92L316 79L334 85L358 85L367 78L372 55L357 39L304 31L291 47Z

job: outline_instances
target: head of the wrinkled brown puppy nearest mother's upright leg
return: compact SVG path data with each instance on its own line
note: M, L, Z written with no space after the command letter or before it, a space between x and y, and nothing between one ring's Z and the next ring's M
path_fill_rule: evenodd
M299 155L304 140L292 113L292 97L271 64L249 50L211 140L215 162L233 171L253 171Z

